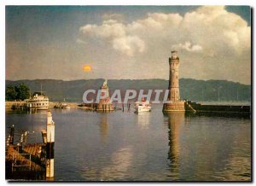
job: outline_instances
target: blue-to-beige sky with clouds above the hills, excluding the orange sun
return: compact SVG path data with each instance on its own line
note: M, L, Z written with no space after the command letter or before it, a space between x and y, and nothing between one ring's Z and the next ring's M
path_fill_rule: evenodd
M251 84L248 6L6 6L6 79L179 78ZM91 67L84 72L84 65Z

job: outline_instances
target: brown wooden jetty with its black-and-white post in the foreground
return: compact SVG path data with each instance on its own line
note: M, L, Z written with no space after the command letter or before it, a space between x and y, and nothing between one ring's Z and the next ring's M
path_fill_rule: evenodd
M21 135L15 144L15 127L11 127L5 148L5 178L9 181L54 180L55 123L47 113L46 130L42 130L43 142L26 143Z

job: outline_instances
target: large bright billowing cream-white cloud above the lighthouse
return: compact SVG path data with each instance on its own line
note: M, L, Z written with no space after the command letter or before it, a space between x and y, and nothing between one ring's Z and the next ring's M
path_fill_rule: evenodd
M85 25L80 32L85 38L105 39L112 48L125 55L143 53L154 42L172 44L178 49L218 55L229 49L237 53L250 48L250 27L239 15L227 12L224 6L205 6L185 15L148 13L147 17L124 24L118 14L103 15L102 25ZM189 41L189 42L188 42ZM194 44L194 45L193 45ZM160 44L157 44L160 45ZM150 49L150 48L149 48Z

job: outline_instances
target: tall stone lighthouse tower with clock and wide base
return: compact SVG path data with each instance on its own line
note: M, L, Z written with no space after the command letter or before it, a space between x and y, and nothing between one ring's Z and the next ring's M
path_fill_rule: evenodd
M180 100L178 85L178 66L179 58L177 51L172 51L172 57L169 58L170 76L169 76L169 95L168 103L164 103L163 111L185 111L184 102Z

